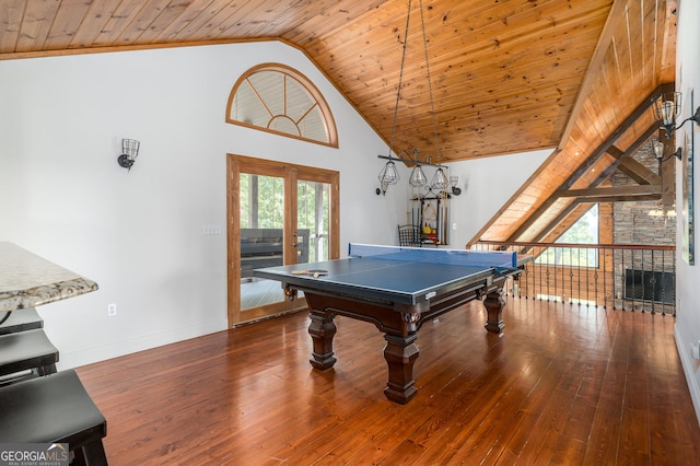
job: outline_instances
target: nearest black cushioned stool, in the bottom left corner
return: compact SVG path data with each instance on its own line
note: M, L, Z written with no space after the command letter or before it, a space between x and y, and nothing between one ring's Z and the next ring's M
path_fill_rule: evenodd
M75 463L106 465L107 421L73 370L0 387L3 443L68 443Z

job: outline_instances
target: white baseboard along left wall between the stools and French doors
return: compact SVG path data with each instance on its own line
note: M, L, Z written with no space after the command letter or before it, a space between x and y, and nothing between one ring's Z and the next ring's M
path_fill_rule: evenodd
M190 338L201 337L203 335L225 329L226 322L224 319L223 322L209 322L195 327L183 327L131 340L117 341L102 347L85 348L80 351L61 351L60 361L56 365L58 370L73 369L151 348L158 348L164 345L175 343L177 341L188 340Z

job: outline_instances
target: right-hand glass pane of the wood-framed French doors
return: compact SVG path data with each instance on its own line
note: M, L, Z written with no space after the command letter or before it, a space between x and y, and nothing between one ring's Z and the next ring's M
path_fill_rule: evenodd
M300 179L296 186L298 261L328 260L330 185Z

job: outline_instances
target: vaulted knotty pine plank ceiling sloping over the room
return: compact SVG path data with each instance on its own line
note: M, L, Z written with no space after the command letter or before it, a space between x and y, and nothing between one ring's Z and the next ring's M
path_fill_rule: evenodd
M433 162L450 162L558 148L479 232L491 240L536 236L525 230L541 225L523 229L524 214L544 206L661 83L675 79L676 0L422 0L428 68L421 0L411 1L406 35L408 4L2 0L0 59L282 40L303 50L397 152L418 148ZM650 125L646 112L616 135L615 148L626 151ZM606 150L588 170L615 163ZM569 187L592 182L576 183ZM542 224L560 213L539 212Z

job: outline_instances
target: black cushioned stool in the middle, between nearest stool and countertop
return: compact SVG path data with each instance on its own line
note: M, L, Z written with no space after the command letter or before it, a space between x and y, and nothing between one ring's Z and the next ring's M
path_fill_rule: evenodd
M34 375L56 372L58 349L43 329L0 335L0 376L32 370Z

